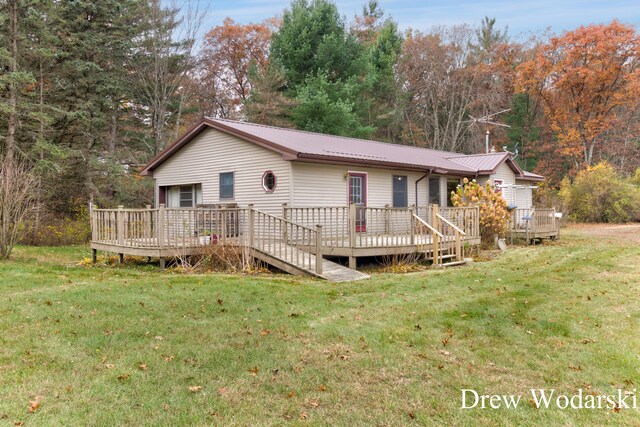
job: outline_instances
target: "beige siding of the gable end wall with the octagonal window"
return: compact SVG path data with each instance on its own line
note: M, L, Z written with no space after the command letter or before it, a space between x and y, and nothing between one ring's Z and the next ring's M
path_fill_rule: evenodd
M271 170L277 186L273 193L262 188L262 175ZM219 200L219 174L234 173L233 200ZM291 165L282 155L253 143L207 129L153 171L156 200L159 186L202 184L202 203L237 203L280 215L290 202Z

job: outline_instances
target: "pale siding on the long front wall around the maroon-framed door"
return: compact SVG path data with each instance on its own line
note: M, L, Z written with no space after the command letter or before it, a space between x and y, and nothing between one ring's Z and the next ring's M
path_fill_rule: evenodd
M367 174L367 205L384 207L393 203L392 177L407 177L409 205L416 201L415 182L424 174L402 170L388 170L356 166L326 165L292 162L293 199L295 207L346 206L348 198L347 174ZM427 203L427 179L418 183L418 204Z

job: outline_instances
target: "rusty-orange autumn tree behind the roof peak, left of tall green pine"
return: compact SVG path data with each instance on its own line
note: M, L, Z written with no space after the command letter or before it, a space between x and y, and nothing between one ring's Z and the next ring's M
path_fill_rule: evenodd
M199 58L203 114L240 115L251 91L250 68L265 68L275 26L274 19L243 25L226 18L205 35Z

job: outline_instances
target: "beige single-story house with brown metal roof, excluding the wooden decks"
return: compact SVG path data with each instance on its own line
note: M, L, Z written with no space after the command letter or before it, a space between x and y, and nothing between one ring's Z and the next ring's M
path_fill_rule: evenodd
M204 118L142 171L156 205L295 207L450 205L464 177L496 185L511 205L532 206L543 177L509 152L465 155L253 123Z

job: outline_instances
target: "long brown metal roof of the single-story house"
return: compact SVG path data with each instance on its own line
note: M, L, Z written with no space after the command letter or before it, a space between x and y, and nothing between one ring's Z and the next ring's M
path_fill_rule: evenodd
M481 170L470 158L460 153L388 144L357 138L325 135L294 129L277 128L226 119L204 118L182 138L167 147L143 169L147 175L204 129L211 127L281 153L286 160L366 164L378 167L477 175ZM498 164L510 160L508 153L486 155L484 163ZM497 163L496 163L497 162ZM514 163L515 164L515 163ZM517 168L517 166L516 166ZM520 169L518 168L518 171ZM520 174L516 172L516 174Z

